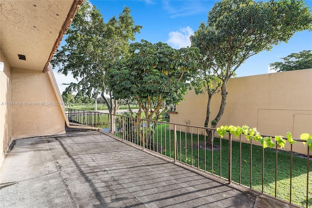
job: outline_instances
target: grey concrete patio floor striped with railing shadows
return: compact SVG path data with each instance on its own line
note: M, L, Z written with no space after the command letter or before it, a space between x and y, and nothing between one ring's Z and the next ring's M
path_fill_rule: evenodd
M84 131L17 140L0 169L0 207L292 206Z

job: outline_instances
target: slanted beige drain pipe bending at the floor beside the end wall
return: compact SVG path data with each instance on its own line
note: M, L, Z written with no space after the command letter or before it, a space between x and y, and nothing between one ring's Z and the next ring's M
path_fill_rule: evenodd
M48 73L48 76L49 76L50 82L52 84L55 96L57 97L58 103L62 103L61 105L59 105L59 107L60 107L60 109L62 111L62 114L63 114L63 117L65 119L66 126L68 128L82 128L82 129L91 129L91 130L103 131L103 129L99 128L99 127L70 125L70 123L68 121L68 118L66 116L64 107L63 107L63 99L61 98L61 95L59 94L59 89L57 89L57 86L56 86L57 82L56 82L56 79L54 77L54 74L53 74L52 70L53 69L52 69L51 63L49 63L49 65L46 68L46 73Z

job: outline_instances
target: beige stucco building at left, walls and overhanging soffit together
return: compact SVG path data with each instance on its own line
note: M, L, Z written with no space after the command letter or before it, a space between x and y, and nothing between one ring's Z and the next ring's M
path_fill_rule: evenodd
M12 139L65 133L59 89L46 70L81 3L1 0L0 166Z

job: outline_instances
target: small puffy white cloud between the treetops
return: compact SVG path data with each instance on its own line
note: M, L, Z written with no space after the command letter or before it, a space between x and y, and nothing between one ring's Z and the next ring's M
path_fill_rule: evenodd
M191 46L190 36L194 35L194 30L190 27L183 27L179 31L169 33L170 39L167 41L173 48Z

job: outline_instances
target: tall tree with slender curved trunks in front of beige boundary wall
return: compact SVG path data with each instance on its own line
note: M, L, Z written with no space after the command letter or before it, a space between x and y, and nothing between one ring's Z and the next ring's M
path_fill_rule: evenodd
M208 83L220 85L222 99L211 127L216 127L224 113L226 86L239 66L255 54L287 42L295 32L311 29L311 22L311 12L303 0L222 0L215 3L207 23L201 23L191 37L192 45L200 48L204 55L206 69L214 76ZM205 78L206 73L203 75ZM209 115L207 106L206 125ZM211 146L211 131L208 136L208 146Z

